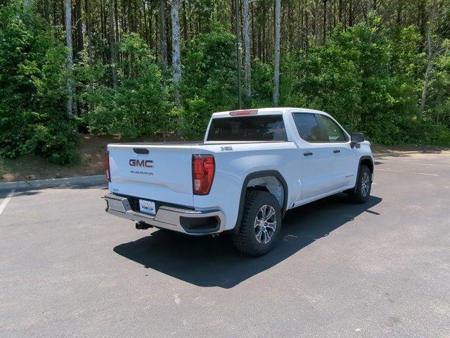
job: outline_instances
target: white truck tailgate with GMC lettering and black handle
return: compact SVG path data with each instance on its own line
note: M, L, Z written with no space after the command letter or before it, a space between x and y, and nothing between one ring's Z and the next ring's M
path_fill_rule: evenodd
M191 145L109 144L110 191L193 206Z

